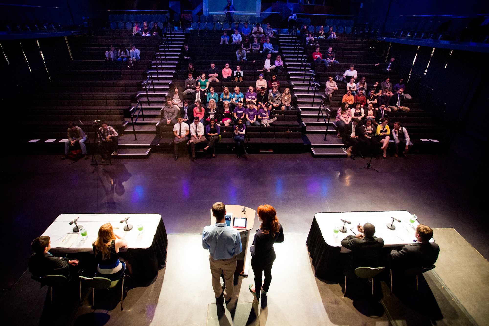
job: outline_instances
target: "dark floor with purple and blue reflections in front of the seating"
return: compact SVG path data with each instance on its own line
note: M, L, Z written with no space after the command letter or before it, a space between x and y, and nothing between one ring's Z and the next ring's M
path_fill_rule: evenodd
M201 233L216 201L251 208L271 204L287 233L308 233L320 211L408 210L432 228L454 228L489 257L485 192L477 187L487 177L470 161L449 155L374 159L380 173L359 170L366 163L362 159L314 159L309 153L248 155L247 160L218 155L195 162L154 153L144 160L114 160L95 173L89 160L60 158L9 155L2 161L0 243L16 259L0 269L1 288L21 277L30 242L59 214L158 213L168 233Z

